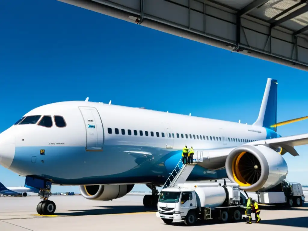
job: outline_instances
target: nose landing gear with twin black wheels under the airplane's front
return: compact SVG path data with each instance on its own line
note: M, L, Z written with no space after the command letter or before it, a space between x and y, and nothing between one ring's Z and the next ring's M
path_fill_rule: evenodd
M40 189L39 197L41 198L41 202L36 206L36 211L40 215L52 215L56 211L56 205L53 201L48 201L48 197L51 196L50 188Z

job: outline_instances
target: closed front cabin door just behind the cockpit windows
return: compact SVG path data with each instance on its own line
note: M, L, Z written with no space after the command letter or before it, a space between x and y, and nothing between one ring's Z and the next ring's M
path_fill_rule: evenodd
M95 107L79 107L86 126L86 150L103 151L103 124Z

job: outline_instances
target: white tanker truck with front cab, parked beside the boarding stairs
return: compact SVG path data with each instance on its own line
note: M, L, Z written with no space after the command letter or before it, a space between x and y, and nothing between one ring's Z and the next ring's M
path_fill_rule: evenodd
M240 205L238 184L178 184L160 192L156 217L165 224L184 220L194 225L197 219L221 222L241 221L245 209Z

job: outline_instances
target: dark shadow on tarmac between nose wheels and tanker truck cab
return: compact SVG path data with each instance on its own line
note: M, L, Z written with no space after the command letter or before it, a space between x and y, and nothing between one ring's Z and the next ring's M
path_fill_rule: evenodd
M68 210L68 213L55 213L58 216L91 216L107 214L125 213L152 213L157 211L155 208L145 208L143 205L115 205L115 206L95 206L97 209Z

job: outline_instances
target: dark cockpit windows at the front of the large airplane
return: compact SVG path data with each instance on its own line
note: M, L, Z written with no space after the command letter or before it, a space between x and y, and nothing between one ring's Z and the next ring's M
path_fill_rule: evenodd
M53 120L50 115L43 115L42 119L40 118L42 115L30 115L30 116L23 116L21 119L19 119L14 125L21 125L21 124L36 124L38 121L39 123L37 125L43 126L46 128L51 128L53 125ZM60 115L54 115L55 125L59 128L66 127L66 122L63 118L63 116Z

